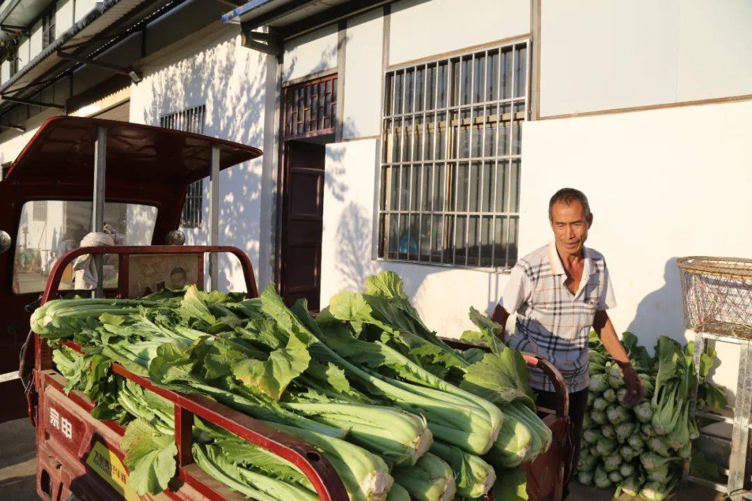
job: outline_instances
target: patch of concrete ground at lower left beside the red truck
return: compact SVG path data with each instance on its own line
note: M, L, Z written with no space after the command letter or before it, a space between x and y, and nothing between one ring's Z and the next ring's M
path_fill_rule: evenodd
M0 424L0 499L38 501L34 442L28 418Z

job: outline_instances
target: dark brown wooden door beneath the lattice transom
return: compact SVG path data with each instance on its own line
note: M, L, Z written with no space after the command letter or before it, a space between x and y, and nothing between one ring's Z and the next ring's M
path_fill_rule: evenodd
M305 297L308 309L318 311L326 146L288 140L284 147L280 292L285 303Z

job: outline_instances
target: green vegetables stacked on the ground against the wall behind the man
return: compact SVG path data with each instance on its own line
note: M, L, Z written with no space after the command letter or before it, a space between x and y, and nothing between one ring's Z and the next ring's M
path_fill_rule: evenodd
M623 405L626 387L620 368L595 333L590 335L590 388L578 460L578 481L599 488L616 487L617 496L640 495L660 501L678 483L685 461L699 436L690 417L690 394L696 383L694 343L684 348L662 336L651 358L634 334L622 343L642 380L645 398ZM726 406L723 390L707 378L714 353L702 355L699 408Z

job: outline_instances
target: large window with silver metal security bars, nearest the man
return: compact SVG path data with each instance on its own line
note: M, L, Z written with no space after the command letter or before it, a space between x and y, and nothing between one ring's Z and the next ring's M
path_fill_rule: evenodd
M380 258L514 265L527 68L521 42L386 72Z

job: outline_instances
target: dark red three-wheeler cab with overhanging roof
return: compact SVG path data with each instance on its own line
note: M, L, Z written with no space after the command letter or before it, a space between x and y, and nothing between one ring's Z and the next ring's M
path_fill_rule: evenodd
M55 116L41 125L16 160L3 169L0 399L5 405L0 407L0 422L21 418L29 410L24 385L17 377L21 352L30 340L29 316L53 264L94 231L98 161L106 166L103 221L125 245L155 246L175 243L171 232L179 228L186 191L191 183L211 174L213 151L220 170L261 155L252 146L199 134ZM96 158L98 153L100 158ZM103 261L105 295L117 295L118 259L105 255ZM73 278L68 264L59 282L61 296L75 294Z

